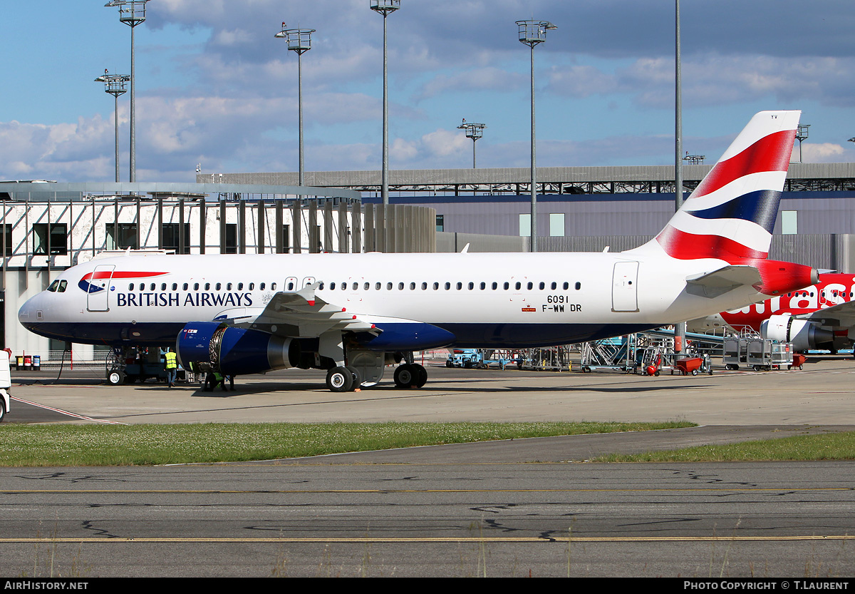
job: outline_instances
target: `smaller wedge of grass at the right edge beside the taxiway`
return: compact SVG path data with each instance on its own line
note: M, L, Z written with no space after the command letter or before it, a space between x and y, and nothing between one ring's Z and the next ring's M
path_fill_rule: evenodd
M644 454L609 454L597 462L738 462L855 460L855 431L800 435L725 445L694 446Z

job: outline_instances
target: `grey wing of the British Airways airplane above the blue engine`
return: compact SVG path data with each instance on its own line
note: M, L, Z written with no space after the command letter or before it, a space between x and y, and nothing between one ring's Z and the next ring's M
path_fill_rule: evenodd
M262 312L254 317L234 318L233 323L239 328L294 338L315 338L328 330L380 334L381 330L369 321L318 297L315 289L319 285L315 282L296 293L277 293Z

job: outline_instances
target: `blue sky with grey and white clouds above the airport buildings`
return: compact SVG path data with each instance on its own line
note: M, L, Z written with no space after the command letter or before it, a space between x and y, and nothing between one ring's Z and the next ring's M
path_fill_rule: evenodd
M130 27L106 0L4 2L0 179L114 179L114 103ZM306 170L380 169L382 17L370 0L151 0L137 44L137 180L296 171L297 56ZM388 17L390 167L529 163L529 50L515 21L552 21L535 50L540 166L673 163L673 0L403 0ZM855 161L852 0L682 0L683 134L714 161L758 110L803 110L805 162ZM119 100L127 181L129 94ZM798 151L795 153L798 155ZM797 157L794 157L797 158Z

